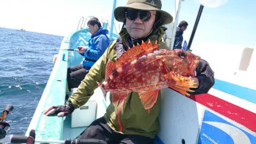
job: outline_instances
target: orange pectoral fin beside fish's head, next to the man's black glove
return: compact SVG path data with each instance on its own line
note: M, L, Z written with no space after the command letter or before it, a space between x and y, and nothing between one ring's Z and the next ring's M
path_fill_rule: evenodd
M194 86L196 83L191 77L183 77L175 72L169 72L164 75L164 78L172 81L172 83L169 84L169 87L182 95L189 95L188 92L194 92L193 90L190 90L190 88L196 88L196 86Z

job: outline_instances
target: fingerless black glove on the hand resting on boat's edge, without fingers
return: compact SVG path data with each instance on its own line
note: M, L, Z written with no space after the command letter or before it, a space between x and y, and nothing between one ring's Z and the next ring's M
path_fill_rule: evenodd
M63 112L63 116L70 115L75 110L74 106L72 106L72 103L70 101L67 102L66 106L52 106L53 109L55 109L54 113L51 113L49 116L56 116L58 113Z

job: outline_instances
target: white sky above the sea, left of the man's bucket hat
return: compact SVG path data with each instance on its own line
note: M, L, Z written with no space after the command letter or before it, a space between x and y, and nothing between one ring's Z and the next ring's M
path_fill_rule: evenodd
M111 22L112 6L99 0L0 0L0 27L65 36L77 29L82 16Z

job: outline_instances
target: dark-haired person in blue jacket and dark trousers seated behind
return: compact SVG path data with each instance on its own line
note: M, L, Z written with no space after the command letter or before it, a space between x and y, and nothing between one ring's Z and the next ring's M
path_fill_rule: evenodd
M90 29L92 37L89 40L88 47L79 46L77 52L84 56L83 65L76 65L68 68L67 83L68 90L77 88L93 64L104 54L110 41L107 36L108 29L103 29L99 19L93 17L88 20L87 26Z

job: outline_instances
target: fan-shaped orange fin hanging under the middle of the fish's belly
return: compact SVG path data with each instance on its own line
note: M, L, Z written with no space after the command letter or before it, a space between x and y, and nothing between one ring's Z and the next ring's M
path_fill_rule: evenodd
M154 90L147 93L140 93L140 99L145 109L150 109L156 103L159 90Z

